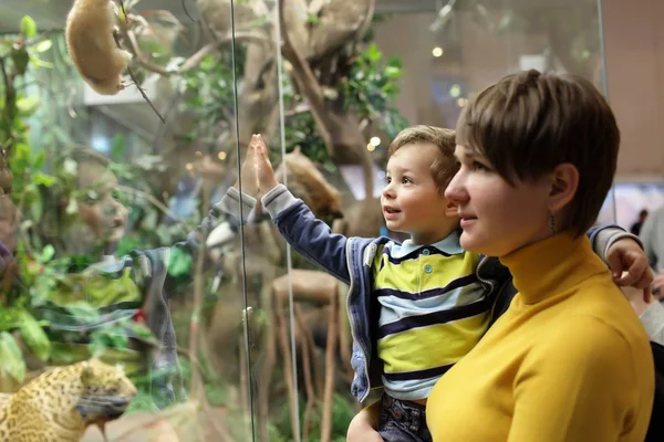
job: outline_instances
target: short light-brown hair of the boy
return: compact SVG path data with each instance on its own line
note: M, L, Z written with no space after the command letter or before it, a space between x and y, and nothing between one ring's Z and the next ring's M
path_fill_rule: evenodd
M449 181L459 170L458 161L454 156L456 148L456 131L443 127L418 125L403 129L390 144L387 158L406 145L415 143L429 143L438 148L443 158L432 164L432 176L438 186L438 191L445 191Z

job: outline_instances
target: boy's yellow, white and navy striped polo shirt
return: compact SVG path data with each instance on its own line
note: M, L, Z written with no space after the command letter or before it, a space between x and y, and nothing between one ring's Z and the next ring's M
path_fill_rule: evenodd
M377 352L385 392L427 398L436 381L489 326L491 299L477 278L477 253L453 232L430 245L388 242L373 262L381 304Z

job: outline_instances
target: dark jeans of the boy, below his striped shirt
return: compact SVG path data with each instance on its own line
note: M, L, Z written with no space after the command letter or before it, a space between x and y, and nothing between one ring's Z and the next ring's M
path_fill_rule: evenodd
M378 433L386 442L432 442L426 408L383 394Z

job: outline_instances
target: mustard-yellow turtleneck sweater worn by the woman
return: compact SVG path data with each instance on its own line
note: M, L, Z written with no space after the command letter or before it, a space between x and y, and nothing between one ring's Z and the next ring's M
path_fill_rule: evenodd
M561 233L501 262L519 293L434 387L434 441L642 442L649 338L589 240Z

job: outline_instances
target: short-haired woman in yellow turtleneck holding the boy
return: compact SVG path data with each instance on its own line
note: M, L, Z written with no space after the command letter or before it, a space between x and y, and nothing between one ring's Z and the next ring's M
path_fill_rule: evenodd
M649 338L583 235L611 188L620 133L573 75L509 75L457 126L461 246L500 257L518 290L478 346L434 388L439 441L643 441Z

